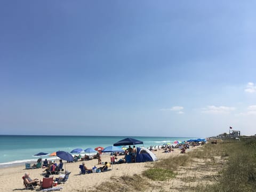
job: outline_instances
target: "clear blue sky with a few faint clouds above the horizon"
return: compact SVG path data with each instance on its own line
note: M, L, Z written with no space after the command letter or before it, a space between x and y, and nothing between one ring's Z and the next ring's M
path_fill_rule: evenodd
M1 1L0 134L255 134L255 1Z

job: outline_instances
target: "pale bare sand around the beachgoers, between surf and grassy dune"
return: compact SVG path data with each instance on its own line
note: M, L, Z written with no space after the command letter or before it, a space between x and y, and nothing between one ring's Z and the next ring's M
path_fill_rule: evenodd
M191 150L191 149L189 149ZM159 161L162 158L175 156L180 154L179 149L174 149L171 153L163 153L163 150L154 151L154 154L158 157ZM119 156L124 157L124 156ZM102 155L102 162L110 162L110 155ZM141 174L142 171L146 170L150 166L151 162L146 163L123 163L111 165L110 171L101 173L91 173L91 174L79 174L78 166L82 164L81 161L75 163L66 163L66 170L70 171L69 179L66 183L60 184L57 187L63 187L62 191L81 191L83 189L93 189L95 186L100 185L103 181L110 180L111 177L119 177L122 175L133 175ZM92 168L98 165L98 159L92 159L90 161L85 161L87 167ZM65 168L65 166L63 166ZM23 186L22 176L25 172L30 173L31 179L43 179L44 169L31 169L25 170L25 165L16 167L6 167L1 169L0 172L0 186L2 191L23 191L25 187ZM57 178L58 175L53 175L53 178ZM39 187L37 187L39 188Z

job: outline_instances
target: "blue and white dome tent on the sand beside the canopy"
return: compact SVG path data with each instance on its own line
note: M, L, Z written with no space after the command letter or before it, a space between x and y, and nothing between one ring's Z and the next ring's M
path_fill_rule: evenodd
M136 154L136 162L153 162L157 161L158 158L154 153L152 153L150 150L148 150L145 147L137 147L137 154Z

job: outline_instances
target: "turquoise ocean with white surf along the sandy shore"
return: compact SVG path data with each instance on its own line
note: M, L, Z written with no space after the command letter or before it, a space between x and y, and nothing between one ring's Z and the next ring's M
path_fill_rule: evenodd
M17 166L37 161L33 155L54 151L70 152L76 148L108 147L127 137L121 136L48 136L48 135L0 135L0 168ZM186 141L196 138L177 137L132 137L143 141L144 147L173 143L174 141ZM42 158L56 159L56 157L44 156Z

